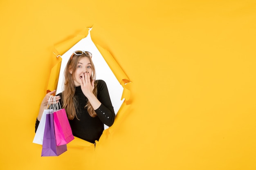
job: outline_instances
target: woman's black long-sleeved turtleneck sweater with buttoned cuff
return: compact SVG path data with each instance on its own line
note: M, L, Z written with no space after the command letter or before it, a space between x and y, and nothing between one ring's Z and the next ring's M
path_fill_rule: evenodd
M87 108L85 108L88 99L83 94L81 86L78 86L74 97L78 101L76 115L80 120L76 119L76 117L73 120L69 120L73 135L91 143L99 140L104 130L104 124L112 126L115 119L115 112L110 101L107 85L103 80L97 81L97 98L101 102L101 106L95 110L97 116L90 117ZM62 93L58 95L62 98ZM62 104L61 99L60 103ZM38 125L39 121L36 119L36 130Z

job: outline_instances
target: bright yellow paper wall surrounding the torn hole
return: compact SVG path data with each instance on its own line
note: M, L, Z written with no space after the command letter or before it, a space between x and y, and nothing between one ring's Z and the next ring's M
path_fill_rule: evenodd
M1 1L1 170L255 170L254 0ZM40 157L34 124L54 44L93 26L132 81L94 146ZM108 134L108 135L107 135Z

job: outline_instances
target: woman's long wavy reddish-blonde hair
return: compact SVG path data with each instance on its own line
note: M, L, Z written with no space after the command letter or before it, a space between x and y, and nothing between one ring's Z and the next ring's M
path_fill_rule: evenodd
M94 67L94 64L92 62L92 58L90 55L83 53L81 55L73 54L70 57L70 59L67 62L67 65L65 67L65 71L64 71L64 91L62 93L62 95L63 95L62 104L63 104L63 108L65 108L65 110L66 110L68 119L71 119L71 120L74 119L74 117L76 117L78 119L78 117L76 115L77 100L74 97L74 94L76 91L76 87L74 85L74 73L76 72L78 62L82 57L88 57L91 62L91 65L92 65L91 66L92 76L90 77L91 82L92 82L92 80L95 80L95 78L96 78L95 67ZM72 70L73 74L70 73L71 70ZM94 82L94 89L92 92L97 97L97 81ZM86 107L87 107L87 111L91 117L97 116L97 114L95 113L89 100L88 100L87 104L85 105L85 108Z

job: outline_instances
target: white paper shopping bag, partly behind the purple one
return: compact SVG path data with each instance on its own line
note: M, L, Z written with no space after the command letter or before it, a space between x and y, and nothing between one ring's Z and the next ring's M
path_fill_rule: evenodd
M43 115L40 119L40 122L39 122L39 125L38 125L38 128L36 130L36 134L35 134L35 137L33 139L33 143L35 144L40 144L40 145L43 145L43 137L44 137L44 132L45 132L45 119L46 119L46 114L47 113L53 113L54 112L54 109L52 108L49 108L50 106L50 102L52 101L53 97L49 97L49 100L48 100L48 104L47 104L47 109L45 109L43 111Z

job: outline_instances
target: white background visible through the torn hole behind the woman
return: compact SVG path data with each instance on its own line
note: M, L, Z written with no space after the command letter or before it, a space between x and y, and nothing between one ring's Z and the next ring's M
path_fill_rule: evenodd
M95 44L92 42L92 39L90 37L90 31L87 37L77 42L74 46L72 46L66 53L64 53L61 56L62 62L56 94L61 93L63 91L63 73L65 70L65 66L72 53L76 50L89 51L90 53L92 53L92 61L94 63L96 70L96 79L102 79L106 82L108 86L110 99L115 110L115 114L117 114L119 108L124 102L124 99L121 100L124 88L121 86L121 84L115 77L114 73L111 71L110 67L104 60L103 56L101 55ZM108 128L108 126L105 125L105 129L106 128Z

